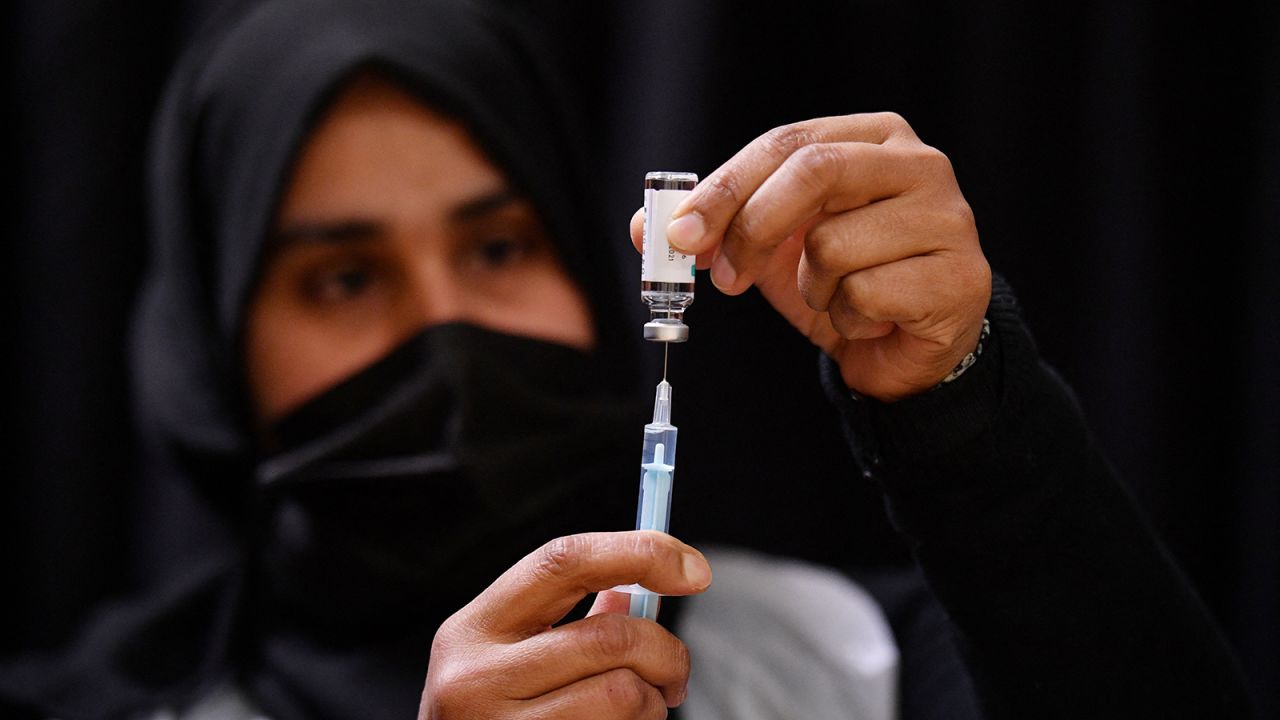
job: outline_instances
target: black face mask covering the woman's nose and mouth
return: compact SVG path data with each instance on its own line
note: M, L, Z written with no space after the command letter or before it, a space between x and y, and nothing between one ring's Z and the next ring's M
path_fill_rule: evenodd
M611 392L602 365L439 325L280 420L257 470L259 623L328 647L417 637L425 652L541 543L628 529L646 402Z

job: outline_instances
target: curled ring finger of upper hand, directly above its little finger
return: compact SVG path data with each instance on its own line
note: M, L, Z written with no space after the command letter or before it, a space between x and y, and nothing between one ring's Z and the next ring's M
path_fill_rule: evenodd
M841 213L805 233L796 272L800 295L810 307L824 311L850 273L946 249L975 249L977 238L973 214L963 200L891 197Z

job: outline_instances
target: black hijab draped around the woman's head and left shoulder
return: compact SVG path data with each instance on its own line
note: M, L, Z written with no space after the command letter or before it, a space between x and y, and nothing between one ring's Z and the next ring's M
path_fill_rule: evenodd
M637 323L625 300L635 287L618 278L626 242L596 219L582 135L538 29L517 9L465 0L268 0L197 36L154 127L151 268L132 345L145 591L104 611L65 657L18 667L5 684L23 687L45 712L119 717L244 680L238 665L256 632L244 603L260 459L241 366L243 319L294 158L360 73L380 73L460 120L531 199L591 304L595 360L618 379L612 391L637 389ZM284 687L294 697L268 703L268 714L403 712L376 689L348 708L307 696L352 671L407 673L420 685L424 669L384 667L376 655L330 660L342 666L316 669L308 687Z

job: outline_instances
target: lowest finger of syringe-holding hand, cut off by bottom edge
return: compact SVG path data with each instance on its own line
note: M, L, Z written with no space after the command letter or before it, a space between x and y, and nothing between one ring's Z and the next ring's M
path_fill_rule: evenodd
M594 675L520 703L529 720L660 720L667 702L657 688L630 670Z

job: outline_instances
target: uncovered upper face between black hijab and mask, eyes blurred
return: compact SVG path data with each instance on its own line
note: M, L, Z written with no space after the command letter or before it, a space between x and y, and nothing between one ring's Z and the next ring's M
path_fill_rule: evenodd
M301 154L248 309L259 420L453 320L584 350L595 341L532 205L466 131L360 79Z

